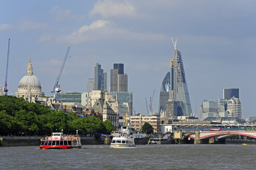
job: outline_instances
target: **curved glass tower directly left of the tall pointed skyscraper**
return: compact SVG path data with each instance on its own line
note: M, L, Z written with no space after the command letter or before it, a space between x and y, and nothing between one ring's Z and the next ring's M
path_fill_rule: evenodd
M159 113L166 110L166 102L170 96L170 72L168 72L161 84L160 95L159 95Z

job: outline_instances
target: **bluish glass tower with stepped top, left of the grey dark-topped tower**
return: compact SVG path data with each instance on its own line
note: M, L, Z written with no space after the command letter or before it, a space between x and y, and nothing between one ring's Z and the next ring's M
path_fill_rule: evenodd
M101 69L101 65L99 63L96 63L94 66L94 90L106 89L106 82L104 83L104 74L106 76L106 73L103 72L104 71L103 69Z

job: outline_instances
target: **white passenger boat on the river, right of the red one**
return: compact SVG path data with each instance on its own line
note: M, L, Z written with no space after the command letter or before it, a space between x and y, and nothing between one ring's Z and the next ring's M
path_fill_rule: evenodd
M134 138L130 137L128 134L120 134L119 136L113 137L111 148L134 148Z

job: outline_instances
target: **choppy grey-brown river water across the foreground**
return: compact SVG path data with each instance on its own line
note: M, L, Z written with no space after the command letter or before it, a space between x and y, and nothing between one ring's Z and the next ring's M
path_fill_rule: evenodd
M114 149L0 147L0 169L256 169L253 145L137 145Z

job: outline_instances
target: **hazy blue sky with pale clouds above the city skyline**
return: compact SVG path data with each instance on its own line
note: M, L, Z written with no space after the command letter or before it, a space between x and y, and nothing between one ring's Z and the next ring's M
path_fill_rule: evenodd
M47 96L55 85L66 49L62 92L85 92L94 63L107 73L124 63L133 107L146 115L155 90L158 110L161 82L169 72L177 39L193 112L203 100L239 88L242 118L256 116L254 97L256 2L244 1L3 1L0 6L0 83L5 82L8 38L8 94L18 91L29 58ZM96 56L96 59L95 59Z

